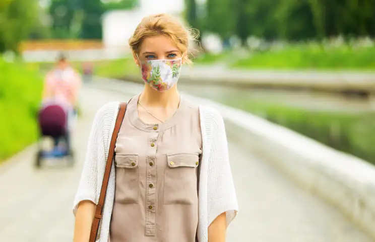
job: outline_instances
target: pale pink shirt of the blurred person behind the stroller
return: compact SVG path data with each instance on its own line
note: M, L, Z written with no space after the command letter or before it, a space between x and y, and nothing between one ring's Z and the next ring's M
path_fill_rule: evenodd
M75 106L81 87L78 72L69 67L65 70L54 69L47 73L44 81L43 100L53 99L57 102Z

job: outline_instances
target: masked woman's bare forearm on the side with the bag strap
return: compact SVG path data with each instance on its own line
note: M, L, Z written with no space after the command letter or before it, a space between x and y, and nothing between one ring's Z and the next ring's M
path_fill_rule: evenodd
M88 242L90 239L91 224L94 220L95 204L92 201L79 203L74 225L73 242Z

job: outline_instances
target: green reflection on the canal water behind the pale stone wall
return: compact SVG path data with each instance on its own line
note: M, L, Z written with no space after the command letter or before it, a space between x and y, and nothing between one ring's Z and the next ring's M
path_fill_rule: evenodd
M317 111L252 100L225 103L375 164L375 113Z

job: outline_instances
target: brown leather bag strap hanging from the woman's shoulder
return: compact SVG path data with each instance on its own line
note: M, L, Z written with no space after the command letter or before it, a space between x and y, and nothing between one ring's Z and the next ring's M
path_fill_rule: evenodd
M104 171L104 177L103 177L103 184L102 184L101 191L100 191L99 201L95 208L95 215L94 215L94 220L92 221L92 225L91 225L89 242L95 242L96 236L98 234L99 224L100 224L100 220L103 214L105 194L107 193L109 174L112 168L114 146L116 144L117 135L120 130L123 117L125 116L126 109L127 109L127 103L121 103L118 114L117 114L116 123L114 125L111 142L109 145L108 158L107 158L107 163L105 165L105 171Z

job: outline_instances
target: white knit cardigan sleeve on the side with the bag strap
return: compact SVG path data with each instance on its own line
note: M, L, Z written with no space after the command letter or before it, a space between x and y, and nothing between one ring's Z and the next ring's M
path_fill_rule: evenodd
M103 106L95 115L86 151L85 162L81 173L77 193L74 199L73 213L76 214L77 207L81 201L89 200L97 203L97 167L100 159L105 156L104 142L103 142L103 129L104 119L106 117L106 108Z

